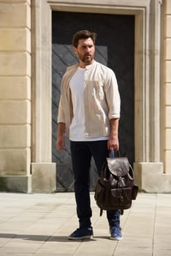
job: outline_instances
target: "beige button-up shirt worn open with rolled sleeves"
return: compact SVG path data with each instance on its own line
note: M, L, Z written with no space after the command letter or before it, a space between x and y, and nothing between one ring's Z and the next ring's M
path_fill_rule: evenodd
M73 117L69 80L79 64L68 67L61 81L61 98L58 107L58 123L65 123L66 134ZM98 138L110 133L110 119L120 117L118 83L112 69L99 62L86 66L84 76L84 108L86 138Z

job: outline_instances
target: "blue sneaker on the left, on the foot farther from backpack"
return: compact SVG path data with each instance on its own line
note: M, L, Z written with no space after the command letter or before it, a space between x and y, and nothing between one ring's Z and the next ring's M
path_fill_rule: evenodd
M70 236L68 236L69 240L83 240L90 239L93 236L93 228L85 227L85 228L77 228Z

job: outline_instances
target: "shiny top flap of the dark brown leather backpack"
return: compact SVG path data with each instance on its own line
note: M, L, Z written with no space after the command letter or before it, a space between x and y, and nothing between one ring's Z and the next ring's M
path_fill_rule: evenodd
M129 173L129 161L126 157L107 158L107 167L114 176L126 176Z

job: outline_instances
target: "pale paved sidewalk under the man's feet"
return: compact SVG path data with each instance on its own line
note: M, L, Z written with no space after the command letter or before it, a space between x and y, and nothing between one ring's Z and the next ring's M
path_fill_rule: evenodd
M0 193L0 256L171 255L171 194L139 193L121 217L122 241L109 239L94 193L91 206L94 238L69 241L77 228L74 193Z

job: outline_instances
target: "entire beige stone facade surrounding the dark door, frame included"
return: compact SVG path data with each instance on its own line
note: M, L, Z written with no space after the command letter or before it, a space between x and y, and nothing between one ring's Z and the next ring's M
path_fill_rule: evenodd
M52 10L135 15L134 171L140 189L171 192L170 0L0 0L0 191L56 189Z

